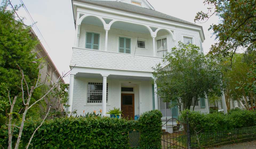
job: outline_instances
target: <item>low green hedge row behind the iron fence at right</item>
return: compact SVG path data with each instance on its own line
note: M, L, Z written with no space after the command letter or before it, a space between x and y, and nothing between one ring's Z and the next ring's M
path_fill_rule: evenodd
M256 112L235 109L228 114L214 112L203 114L199 111L185 110L182 112L181 121L186 122L186 113L189 112L190 130L202 130L203 132L227 131L235 128L256 126Z

